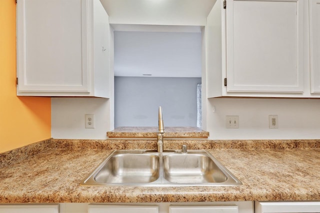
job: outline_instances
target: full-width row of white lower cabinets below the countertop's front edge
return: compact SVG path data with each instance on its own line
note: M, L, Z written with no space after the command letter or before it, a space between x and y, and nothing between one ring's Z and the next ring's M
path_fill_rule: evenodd
M0 213L320 213L320 202L0 204Z

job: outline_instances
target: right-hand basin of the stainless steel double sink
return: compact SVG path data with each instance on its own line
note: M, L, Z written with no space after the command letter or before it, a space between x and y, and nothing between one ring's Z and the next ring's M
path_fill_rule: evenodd
M164 178L171 183L223 183L228 177L214 161L203 154L163 157Z

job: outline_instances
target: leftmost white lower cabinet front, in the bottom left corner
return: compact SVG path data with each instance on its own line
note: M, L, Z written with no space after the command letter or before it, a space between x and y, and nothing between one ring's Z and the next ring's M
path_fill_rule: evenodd
M3 204L0 213L59 213L58 204Z

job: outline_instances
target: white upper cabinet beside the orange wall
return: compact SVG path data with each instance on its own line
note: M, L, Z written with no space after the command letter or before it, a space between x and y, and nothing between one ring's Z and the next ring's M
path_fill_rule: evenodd
M17 95L109 97L109 24L99 0L17 1Z

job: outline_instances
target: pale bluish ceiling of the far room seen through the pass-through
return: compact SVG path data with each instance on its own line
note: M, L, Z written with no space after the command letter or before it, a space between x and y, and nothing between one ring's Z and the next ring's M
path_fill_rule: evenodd
M114 31L114 75L201 77L200 32Z

